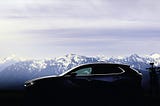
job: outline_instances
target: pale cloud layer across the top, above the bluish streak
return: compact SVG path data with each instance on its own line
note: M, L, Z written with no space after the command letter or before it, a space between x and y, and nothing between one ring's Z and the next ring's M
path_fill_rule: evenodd
M0 4L0 17L52 28L159 27L158 0L14 0ZM13 20L12 20L13 19ZM30 23L28 23L30 22ZM37 26L38 26L37 25ZM23 25L24 27L26 25Z

